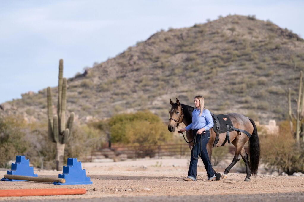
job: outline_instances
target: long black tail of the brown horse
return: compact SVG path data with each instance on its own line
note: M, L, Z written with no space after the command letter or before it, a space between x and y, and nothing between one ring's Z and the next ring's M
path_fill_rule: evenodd
M252 175L257 174L257 169L259 167L260 161L260 141L259 136L257 135L257 127L254 121L249 118L250 122L253 125L253 132L249 138L248 147L249 147L249 167Z

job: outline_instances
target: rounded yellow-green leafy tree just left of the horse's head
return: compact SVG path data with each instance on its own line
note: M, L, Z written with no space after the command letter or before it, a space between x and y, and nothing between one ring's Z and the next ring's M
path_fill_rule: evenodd
M130 145L162 144L172 139L161 118L148 110L118 114L109 121L110 141Z

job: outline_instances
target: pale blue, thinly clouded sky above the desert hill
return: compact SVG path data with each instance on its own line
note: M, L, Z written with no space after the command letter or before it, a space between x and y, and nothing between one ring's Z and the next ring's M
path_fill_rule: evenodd
M58 84L168 28L255 15L304 38L304 1L0 0L0 104Z

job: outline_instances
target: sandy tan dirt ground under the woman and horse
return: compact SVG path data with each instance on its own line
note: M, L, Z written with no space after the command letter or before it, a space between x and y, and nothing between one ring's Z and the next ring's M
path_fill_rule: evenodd
M198 164L197 181L186 182L188 159L149 159L107 163L82 163L90 185L53 185L42 182L0 181L0 189L85 188L82 195L0 197L22 201L304 201L304 177L258 174L244 182L246 174L232 173L220 181L207 181L206 170ZM223 168L215 167L223 172ZM62 171L34 169L40 177L58 177ZM6 174L1 169L0 177Z

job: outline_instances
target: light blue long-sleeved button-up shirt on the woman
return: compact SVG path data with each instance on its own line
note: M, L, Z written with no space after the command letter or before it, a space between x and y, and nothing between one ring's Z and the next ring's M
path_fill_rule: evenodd
M201 129L205 128L206 131L208 131L210 128L213 127L213 119L211 116L211 113L208 109L203 109L203 112L201 115L200 109L195 108L192 112L192 123L189 124L186 127L186 130L188 131L189 129Z

